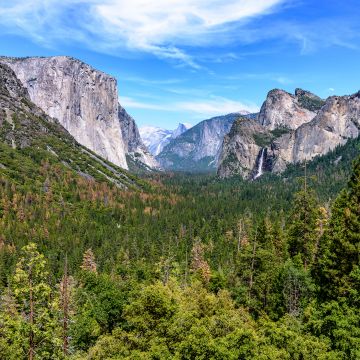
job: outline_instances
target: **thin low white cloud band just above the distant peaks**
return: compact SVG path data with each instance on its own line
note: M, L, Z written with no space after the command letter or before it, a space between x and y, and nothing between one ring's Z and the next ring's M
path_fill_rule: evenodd
M120 97L122 106L127 109L144 109L170 112L186 112L200 118L224 115L239 111L257 112L259 107L253 103L235 101L223 97L212 96L209 99L173 102L167 104L153 104L137 101L130 97Z

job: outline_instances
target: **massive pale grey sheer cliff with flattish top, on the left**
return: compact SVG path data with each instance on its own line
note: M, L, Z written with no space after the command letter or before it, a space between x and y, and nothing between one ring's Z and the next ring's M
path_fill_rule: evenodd
M118 103L115 78L68 56L1 57L0 61L14 70L31 101L58 119L79 143L124 169L128 152L141 154L146 166L154 166L136 138L137 129L124 128L129 122ZM135 122L132 125L135 129ZM129 143L137 147L129 151Z

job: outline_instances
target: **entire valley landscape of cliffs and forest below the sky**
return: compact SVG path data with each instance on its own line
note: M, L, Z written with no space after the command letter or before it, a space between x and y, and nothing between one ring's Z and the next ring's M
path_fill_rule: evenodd
M358 93L270 91L150 151L113 78L1 59L4 359L358 358Z

